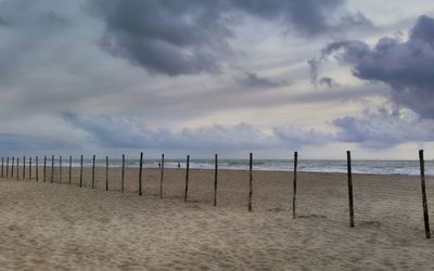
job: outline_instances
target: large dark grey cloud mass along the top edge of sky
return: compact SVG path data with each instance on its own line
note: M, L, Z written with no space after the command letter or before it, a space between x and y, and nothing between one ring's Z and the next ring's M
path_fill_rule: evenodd
M103 17L102 50L151 73L169 76L219 73L231 53L228 39L242 16L283 22L286 28L319 35L336 28L369 25L360 13L337 17L343 0L93 0ZM333 23L334 22L334 23Z

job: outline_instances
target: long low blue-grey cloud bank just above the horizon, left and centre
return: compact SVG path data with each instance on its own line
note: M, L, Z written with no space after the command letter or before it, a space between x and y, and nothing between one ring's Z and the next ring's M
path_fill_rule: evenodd
M99 115L81 117L63 114L64 120L89 133L94 143L103 147L182 149L182 150L263 150L270 147L299 147L306 144L326 144L332 137L312 129L276 127L266 134L253 125L212 125L184 128L179 132L151 129L137 118Z

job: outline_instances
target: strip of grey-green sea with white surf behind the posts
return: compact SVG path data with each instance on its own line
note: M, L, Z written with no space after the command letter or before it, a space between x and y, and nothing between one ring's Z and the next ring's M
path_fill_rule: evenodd
M181 168L186 168L184 159L166 159L165 168L177 168L178 162ZM51 163L51 162L50 162ZM51 165L51 164L48 165ZM56 162L58 163L58 162ZM157 168L158 159L144 159L144 168ZM68 160L64 159L64 166ZM73 167L79 167L80 160L73 159ZM92 159L84 159L85 167L92 166ZM95 160L97 167L105 167L105 158ZM122 159L110 159L110 167L122 167ZM139 159L126 159L126 167L138 168ZM191 159L192 169L214 169L214 159ZM248 169L247 159L219 159L219 169ZM277 170L292 171L293 160L284 159L254 159L254 170ZM331 159L299 159L298 171L308 172L346 172L346 160ZM375 173L375 175L409 175L420 173L419 160L353 160L352 170L354 173ZM434 160L425 160L425 175L434 176Z

